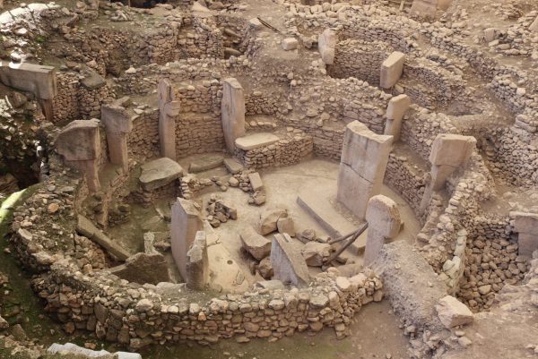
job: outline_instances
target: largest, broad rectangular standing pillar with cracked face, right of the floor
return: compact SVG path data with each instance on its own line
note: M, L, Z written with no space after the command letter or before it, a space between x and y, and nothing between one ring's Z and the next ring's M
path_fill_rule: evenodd
M353 121L343 137L336 199L364 219L370 197L381 191L393 136L371 132Z

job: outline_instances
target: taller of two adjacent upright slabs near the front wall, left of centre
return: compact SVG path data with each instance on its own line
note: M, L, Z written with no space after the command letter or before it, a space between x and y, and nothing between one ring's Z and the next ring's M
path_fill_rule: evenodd
M187 252L195 242L196 233L203 228L199 206L194 201L178 198L172 206L171 247L176 266L185 280L188 278Z

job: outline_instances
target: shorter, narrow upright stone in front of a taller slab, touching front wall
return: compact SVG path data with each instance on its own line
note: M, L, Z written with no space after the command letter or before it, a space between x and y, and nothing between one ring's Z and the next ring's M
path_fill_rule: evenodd
M198 231L187 252L187 286L201 290L209 283L209 257L204 231Z

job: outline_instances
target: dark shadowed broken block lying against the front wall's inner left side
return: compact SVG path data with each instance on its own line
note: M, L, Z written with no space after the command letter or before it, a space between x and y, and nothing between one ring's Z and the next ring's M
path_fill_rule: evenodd
M111 268L110 273L141 285L170 281L168 264L161 253L136 253L124 264Z

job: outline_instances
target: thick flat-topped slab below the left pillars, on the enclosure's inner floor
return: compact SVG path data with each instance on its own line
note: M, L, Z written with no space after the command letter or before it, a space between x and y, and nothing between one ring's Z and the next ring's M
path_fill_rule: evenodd
M142 174L138 178L146 191L161 188L183 175L183 168L170 158L159 158L142 165Z

